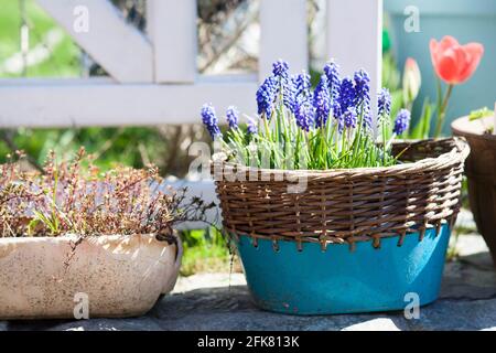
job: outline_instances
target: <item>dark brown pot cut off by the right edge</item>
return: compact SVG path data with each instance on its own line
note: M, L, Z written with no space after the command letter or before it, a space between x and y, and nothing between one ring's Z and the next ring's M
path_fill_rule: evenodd
M465 162L471 208L496 266L496 136L485 133L490 126L493 117L474 121L463 117L454 120L451 128L455 136L465 137L471 147Z

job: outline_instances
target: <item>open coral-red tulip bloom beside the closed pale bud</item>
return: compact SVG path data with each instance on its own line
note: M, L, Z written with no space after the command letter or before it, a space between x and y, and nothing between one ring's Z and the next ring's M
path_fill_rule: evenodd
M431 58L438 76L446 84L456 85L467 81L481 62L484 46L479 43L460 45L450 35L438 43L431 40Z

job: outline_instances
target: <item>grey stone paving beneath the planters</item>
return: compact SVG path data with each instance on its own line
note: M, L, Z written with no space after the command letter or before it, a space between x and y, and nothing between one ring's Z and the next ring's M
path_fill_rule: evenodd
M461 258L448 263L440 299L420 309L419 320L402 312L292 317L255 307L241 274L180 278L142 318L87 321L0 321L2 330L496 330L496 272L482 238L463 236Z

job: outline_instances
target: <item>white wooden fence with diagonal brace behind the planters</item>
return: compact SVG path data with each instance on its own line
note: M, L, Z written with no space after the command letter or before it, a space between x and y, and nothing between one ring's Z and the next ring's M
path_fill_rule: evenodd
M0 128L191 124L205 101L251 114L258 82L273 61L284 58L298 71L309 66L305 0L260 0L258 75L222 77L197 74L196 0L148 0L145 34L108 0L36 1L110 76L0 79ZM75 26L80 9L88 31ZM373 97L380 86L381 14L382 0L326 0L322 33L327 56L345 74L368 71ZM212 183L186 183L214 197Z

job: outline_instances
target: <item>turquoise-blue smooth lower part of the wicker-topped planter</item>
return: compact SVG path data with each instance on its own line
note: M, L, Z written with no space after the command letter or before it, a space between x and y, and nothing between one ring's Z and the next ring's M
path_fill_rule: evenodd
M403 310L418 295L420 306L438 298L451 229L443 224L405 237L382 238L380 248L370 242L330 244L236 240L248 287L258 307L289 314L337 314ZM406 297L407 296L407 297Z

